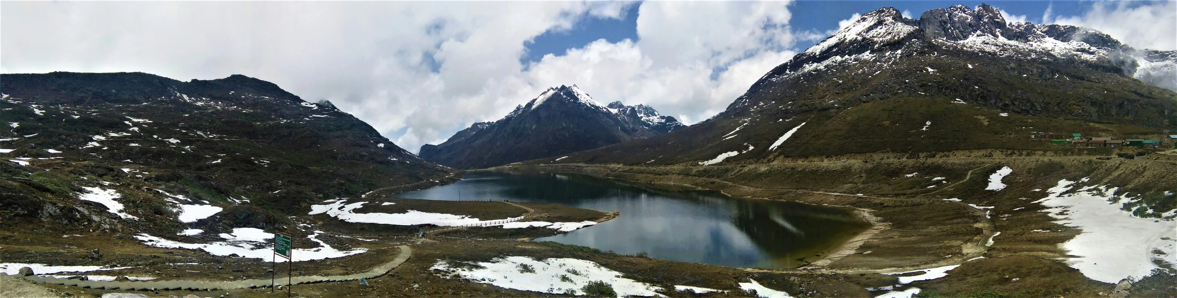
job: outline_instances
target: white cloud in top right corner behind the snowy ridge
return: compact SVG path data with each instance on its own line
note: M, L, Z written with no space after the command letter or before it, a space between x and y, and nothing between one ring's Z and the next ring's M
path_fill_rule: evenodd
M1135 48L1177 49L1177 1L1097 1L1083 15L1052 15L1048 8L1042 19L1093 28Z

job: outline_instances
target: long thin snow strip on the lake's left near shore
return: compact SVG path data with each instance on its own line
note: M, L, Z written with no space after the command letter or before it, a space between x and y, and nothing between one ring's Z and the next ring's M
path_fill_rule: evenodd
M415 210L406 211L405 213L355 213L353 210L360 208L367 201L359 201L346 204L347 200L338 200L328 205L311 205L311 213L307 214L319 214L327 213L327 216L338 218L347 223L366 223L366 224L384 224L384 225L438 225L438 226L460 226L470 224L485 224L496 220L480 220L478 218L471 218L470 216L455 216L446 213L432 213L432 212L420 212ZM523 219L507 218L506 220L514 221ZM499 219L503 220L503 219Z

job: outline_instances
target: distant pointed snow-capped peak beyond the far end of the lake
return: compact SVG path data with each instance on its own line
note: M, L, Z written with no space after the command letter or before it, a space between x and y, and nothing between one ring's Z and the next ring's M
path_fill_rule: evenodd
M552 87L494 122L476 122L420 157L458 168L484 168L554 157L686 127L650 106L604 106L576 85Z

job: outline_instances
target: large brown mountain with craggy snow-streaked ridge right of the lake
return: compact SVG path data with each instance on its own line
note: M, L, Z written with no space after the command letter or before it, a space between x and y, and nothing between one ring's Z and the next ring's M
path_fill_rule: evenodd
M1029 138L1044 132L1159 138L1177 122L1177 93L1137 78L1170 75L1171 58L1088 28L1006 22L988 5L920 19L882 8L777 66L712 119L534 163L1063 148Z

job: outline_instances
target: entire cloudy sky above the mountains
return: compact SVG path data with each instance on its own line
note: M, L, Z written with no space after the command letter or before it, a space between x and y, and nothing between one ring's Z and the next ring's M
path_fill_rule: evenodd
M0 2L0 72L245 74L331 100L417 152L543 90L693 124L857 15L969 1ZM1008 20L1177 49L1173 1L991 1Z

